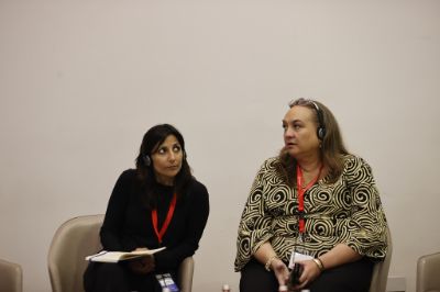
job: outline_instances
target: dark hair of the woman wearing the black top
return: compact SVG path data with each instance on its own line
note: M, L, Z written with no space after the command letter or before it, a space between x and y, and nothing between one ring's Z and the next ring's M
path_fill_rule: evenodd
M144 202L148 207L156 206L158 183L154 173L153 161L151 160L150 164L147 164L145 160L151 159L151 154L154 153L169 135L174 135L177 138L183 151L182 168L174 179L174 190L177 196L185 194L188 183L193 180L191 169L186 159L184 136L177 128L169 124L153 126L145 133L139 150L139 156L136 157L138 179L141 182L142 189L145 191Z

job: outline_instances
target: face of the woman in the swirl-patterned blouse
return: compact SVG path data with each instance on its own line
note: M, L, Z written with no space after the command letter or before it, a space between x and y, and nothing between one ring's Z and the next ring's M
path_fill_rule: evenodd
M319 154L316 113L295 105L284 116L284 147L295 158Z

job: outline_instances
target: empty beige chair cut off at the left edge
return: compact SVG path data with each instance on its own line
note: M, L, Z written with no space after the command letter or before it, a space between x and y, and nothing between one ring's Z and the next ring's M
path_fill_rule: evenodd
M0 259L0 291L23 291L23 271L20 265Z

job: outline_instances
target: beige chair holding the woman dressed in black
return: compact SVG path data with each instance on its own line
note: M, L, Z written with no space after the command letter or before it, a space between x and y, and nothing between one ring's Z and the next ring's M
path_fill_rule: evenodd
M96 254L102 246L99 229L103 215L86 215L68 220L59 226L48 251L48 273L54 292L78 292L82 289L82 274L87 268L86 256ZM193 257L186 258L178 271L182 292L191 292Z

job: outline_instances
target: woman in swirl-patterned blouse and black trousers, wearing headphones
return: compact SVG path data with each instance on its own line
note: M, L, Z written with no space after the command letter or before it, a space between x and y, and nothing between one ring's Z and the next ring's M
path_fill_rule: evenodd
M260 169L239 226L241 292L366 292L387 224L370 165L350 154L322 103L298 99L284 147Z

